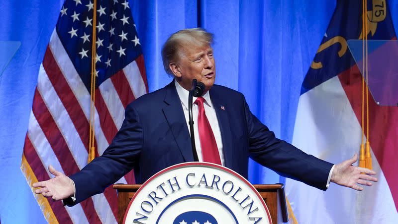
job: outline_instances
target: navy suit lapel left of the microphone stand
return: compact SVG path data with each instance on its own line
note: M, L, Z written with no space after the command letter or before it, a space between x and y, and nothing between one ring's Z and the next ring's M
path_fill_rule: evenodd
M166 86L166 106L163 113L177 142L178 148L186 162L194 161L192 154L191 136L185 121L183 107L178 97L174 80Z

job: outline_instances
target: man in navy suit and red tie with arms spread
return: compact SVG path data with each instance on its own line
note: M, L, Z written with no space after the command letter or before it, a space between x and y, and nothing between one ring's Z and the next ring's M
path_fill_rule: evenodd
M214 85L215 61L212 34L186 29L173 34L162 49L163 64L174 80L146 94L125 111L123 125L102 156L68 177L51 166L55 175L34 183L36 193L75 205L101 193L132 168L143 183L163 168L194 161L188 128L188 90L192 80L205 85L202 97L194 98L194 129L199 161L218 163L248 177L248 158L281 175L326 190L329 182L363 188L377 179L366 168L351 166L353 158L333 165L307 155L277 139L249 110L244 96Z

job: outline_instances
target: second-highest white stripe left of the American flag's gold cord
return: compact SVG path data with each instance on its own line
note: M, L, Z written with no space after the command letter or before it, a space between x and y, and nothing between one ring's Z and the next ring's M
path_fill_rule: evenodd
M83 145L83 142L75 128L75 125L69 117L68 112L66 111L64 105L55 92L53 85L48 79L43 64L40 65L37 90L46 104L47 109L54 118L54 121L64 137L65 142L76 161L76 164L78 165L79 169L82 169L87 165L89 154L87 153L87 150Z

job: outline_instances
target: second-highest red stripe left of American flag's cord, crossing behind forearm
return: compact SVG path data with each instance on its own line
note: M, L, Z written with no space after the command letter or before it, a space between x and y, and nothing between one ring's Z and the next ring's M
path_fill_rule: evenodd
M49 144L51 145L51 148L53 149L62 169L64 170L65 175L69 176L80 171L76 164L75 158L73 157L64 137L58 129L58 126L51 113L48 111L40 93L37 91L37 88L33 98L32 111ZM91 198L81 202L81 205L87 220L90 223L101 223L100 218L94 209L94 203Z

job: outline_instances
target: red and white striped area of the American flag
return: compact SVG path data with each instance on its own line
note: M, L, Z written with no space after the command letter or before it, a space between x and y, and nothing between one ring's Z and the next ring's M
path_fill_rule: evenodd
M147 93L143 57L101 83L96 90L95 144L101 155L120 128L128 103ZM47 167L71 175L87 165L90 93L54 30L40 66L24 155L39 181L52 175ZM133 183L131 173L118 183ZM62 223L116 223L117 197L110 187L74 207L49 200Z

